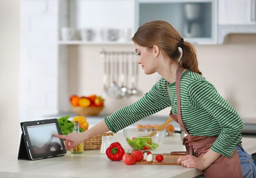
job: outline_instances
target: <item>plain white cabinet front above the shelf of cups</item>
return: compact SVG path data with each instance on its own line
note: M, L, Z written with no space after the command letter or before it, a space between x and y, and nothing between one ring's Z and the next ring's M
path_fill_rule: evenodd
M132 0L72 0L71 6L78 29L134 26Z

